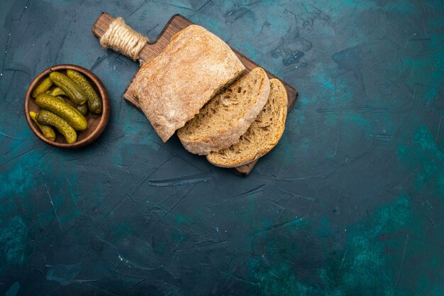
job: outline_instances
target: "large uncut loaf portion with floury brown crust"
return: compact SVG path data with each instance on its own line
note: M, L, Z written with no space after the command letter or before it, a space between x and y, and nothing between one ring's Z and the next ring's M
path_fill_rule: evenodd
M244 70L223 40L192 25L176 33L160 55L140 67L126 93L138 99L165 142Z

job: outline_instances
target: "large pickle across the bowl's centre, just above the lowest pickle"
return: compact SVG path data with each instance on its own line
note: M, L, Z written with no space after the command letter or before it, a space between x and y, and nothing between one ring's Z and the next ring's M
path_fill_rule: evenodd
M57 99L57 97L52 97L49 94L39 94L37 99L35 99L35 104L38 104L40 108L52 111L62 117L68 124L77 129L77 131L82 131L88 126L87 119L85 119L79 110L68 103L62 102L62 100Z

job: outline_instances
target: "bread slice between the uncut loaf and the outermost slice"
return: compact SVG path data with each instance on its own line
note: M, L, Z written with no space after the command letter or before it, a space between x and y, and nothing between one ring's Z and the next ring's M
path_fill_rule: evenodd
M267 73L257 67L206 104L199 114L177 131L191 153L206 155L228 148L255 121L270 94Z

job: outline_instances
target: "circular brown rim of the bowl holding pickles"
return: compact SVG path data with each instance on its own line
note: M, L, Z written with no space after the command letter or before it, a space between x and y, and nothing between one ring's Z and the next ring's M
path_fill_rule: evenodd
M97 89L99 89L99 93L100 93L100 97L102 99L103 106L102 106L102 113L100 115L99 124L97 125L96 129L94 129L94 131L92 131L86 138L82 139L81 141L76 141L74 143L57 143L55 141L50 141L48 138L45 138L43 136L43 134L40 132L40 129L38 128L38 126L36 126L36 124L30 118L29 110L28 110L28 107L29 107L28 102L31 99L31 92L33 91L36 84L38 84L38 82L40 82L40 80L42 80L43 77L49 75L50 72L54 72L57 70L67 70L67 69L72 69L72 70L77 70L79 72L82 72L82 74L87 75L87 77L89 77L89 79L92 80L94 82L94 84L96 84ZM108 92L106 92L106 88L104 87L104 84L101 82L99 77L97 77L90 70L88 70L82 66L79 66L79 65L72 65L72 64L55 65L55 66L49 67L48 69L40 72L37 76L35 76L34 80L29 84L28 90L26 91L26 95L25 95L25 114L26 114L26 121L28 121L28 126L30 127L31 131L33 131L35 136L40 138L41 141L43 141L51 146L57 147L57 148L81 148L81 147L87 146L90 143L94 142L96 140L96 138L99 138L101 133L104 132L106 125L108 124L109 115L110 115L109 96L108 96Z

